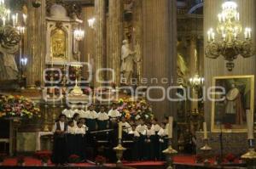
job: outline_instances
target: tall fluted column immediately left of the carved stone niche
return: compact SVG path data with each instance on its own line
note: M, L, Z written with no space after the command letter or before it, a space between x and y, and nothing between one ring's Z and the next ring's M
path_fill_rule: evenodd
M26 86L35 87L35 82L44 84L44 59L46 47L45 0L41 7L34 8L27 3L27 31L25 55L28 63L26 68Z

